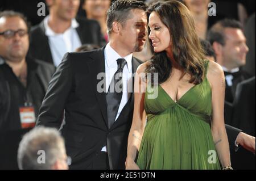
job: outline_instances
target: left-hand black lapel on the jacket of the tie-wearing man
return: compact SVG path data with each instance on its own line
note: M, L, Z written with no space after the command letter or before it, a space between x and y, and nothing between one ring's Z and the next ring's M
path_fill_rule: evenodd
M108 117L107 117L107 104L106 104L106 92L99 92L97 90L98 83L103 81L104 85L106 85L105 78L97 79L97 75L99 73L104 73L105 75L105 58L104 58L104 48L98 49L94 51L90 58L92 61L88 62L90 77L92 79L92 87L93 91L96 94L96 98L98 100L98 104L101 108L102 116L104 117L106 127L108 127ZM100 84L99 84L100 85Z

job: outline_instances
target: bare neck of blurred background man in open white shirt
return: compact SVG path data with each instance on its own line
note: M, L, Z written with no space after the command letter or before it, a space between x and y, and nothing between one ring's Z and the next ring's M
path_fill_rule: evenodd
M47 23L55 33L64 33L69 27L71 27L71 20L60 19L51 14L49 15Z

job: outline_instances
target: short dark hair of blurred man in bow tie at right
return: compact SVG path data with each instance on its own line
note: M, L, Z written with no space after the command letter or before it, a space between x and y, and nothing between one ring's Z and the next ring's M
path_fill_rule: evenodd
M243 26L240 22L234 19L223 19L213 24L208 31L207 40L212 45L214 41L221 45L225 45L225 28L238 28L243 31Z

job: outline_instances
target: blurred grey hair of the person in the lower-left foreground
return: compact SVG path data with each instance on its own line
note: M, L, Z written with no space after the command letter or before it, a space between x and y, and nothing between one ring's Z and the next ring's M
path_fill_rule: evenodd
M50 170L60 157L64 140L55 128L36 127L26 133L19 143L18 166L21 170ZM40 151L45 162L39 162Z

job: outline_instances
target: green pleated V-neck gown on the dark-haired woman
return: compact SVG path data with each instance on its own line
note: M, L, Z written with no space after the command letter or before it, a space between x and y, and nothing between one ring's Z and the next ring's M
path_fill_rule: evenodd
M206 77L208 64L205 61L203 82L177 102L161 86L147 87L147 124L137 159L140 169L221 169L210 129L212 91ZM157 98L148 97L150 89L158 89Z

